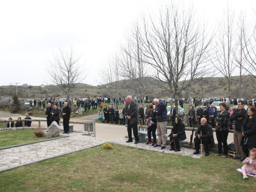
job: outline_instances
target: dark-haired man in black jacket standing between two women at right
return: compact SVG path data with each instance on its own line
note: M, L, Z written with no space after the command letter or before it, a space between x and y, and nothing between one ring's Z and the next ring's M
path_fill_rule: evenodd
M232 115L230 115L230 120L232 122L233 127L233 139L234 139L234 146L236 147L236 157L233 157L232 159L239 161L244 161L246 158L245 153L243 152L242 146L241 146L241 140L242 140L242 133L241 133L241 127L244 122L245 116L247 115L246 110L244 109L244 101L238 101L238 109L236 106L232 106L231 110L233 110Z

